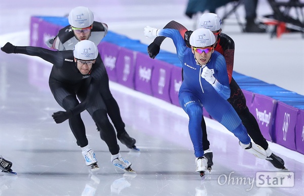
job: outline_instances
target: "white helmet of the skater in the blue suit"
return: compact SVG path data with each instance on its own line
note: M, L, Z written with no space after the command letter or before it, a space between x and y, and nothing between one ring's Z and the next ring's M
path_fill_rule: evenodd
M206 47L215 43L215 36L209 29L200 28L193 31L189 42L194 47Z

